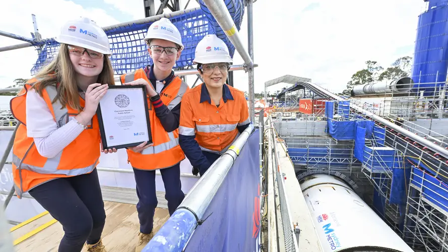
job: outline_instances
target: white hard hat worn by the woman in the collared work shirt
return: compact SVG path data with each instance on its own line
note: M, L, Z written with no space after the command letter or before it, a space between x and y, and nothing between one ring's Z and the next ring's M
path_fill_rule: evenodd
M227 45L215 34L206 35L199 41L195 50L194 64L232 62Z

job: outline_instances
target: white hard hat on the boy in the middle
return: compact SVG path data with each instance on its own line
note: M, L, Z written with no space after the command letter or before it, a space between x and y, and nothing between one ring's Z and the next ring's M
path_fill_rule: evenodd
M167 18L161 18L149 26L145 42L149 45L149 41L156 38L171 41L178 44L181 50L183 49L179 30Z

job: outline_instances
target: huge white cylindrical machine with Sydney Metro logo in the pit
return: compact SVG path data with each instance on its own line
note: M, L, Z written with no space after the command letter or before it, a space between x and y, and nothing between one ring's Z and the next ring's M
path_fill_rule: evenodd
M311 174L300 187L325 252L412 252L342 179Z

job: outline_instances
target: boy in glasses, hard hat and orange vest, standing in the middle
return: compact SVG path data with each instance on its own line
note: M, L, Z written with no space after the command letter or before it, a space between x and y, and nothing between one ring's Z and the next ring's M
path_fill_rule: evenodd
M178 127L180 100L189 87L174 76L173 71L183 49L182 39L177 28L162 18L148 28L145 43L154 64L120 77L123 85L146 86L153 139L153 144L145 142L127 150L139 198L140 234L136 252L141 251L155 233L156 170L162 175L170 216L185 197L180 184L180 162L185 155L178 144Z

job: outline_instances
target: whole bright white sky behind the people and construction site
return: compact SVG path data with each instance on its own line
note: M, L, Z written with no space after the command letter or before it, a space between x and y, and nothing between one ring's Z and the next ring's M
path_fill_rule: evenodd
M266 81L283 75L310 78L331 91L341 92L367 60L383 68L397 58L413 56L418 15L422 0L258 0L253 4L255 92ZM22 0L2 3L0 30L31 37L31 14L36 15L42 38L56 36L60 25L79 16L100 26L145 18L143 0ZM187 0L181 0L184 7ZM155 0L156 8L160 4ZM191 0L187 9L198 7ZM50 11L51 9L51 11ZM247 12L239 31L247 48ZM23 41L0 36L0 47ZM0 88L17 78L30 78L37 59L34 47L0 52ZM235 65L243 60L235 50ZM196 78L188 77L193 85ZM268 88L273 93L287 84ZM234 72L234 87L248 91L247 73Z

